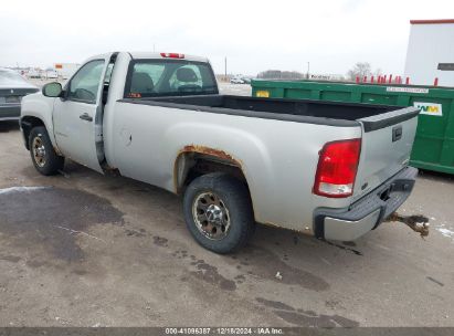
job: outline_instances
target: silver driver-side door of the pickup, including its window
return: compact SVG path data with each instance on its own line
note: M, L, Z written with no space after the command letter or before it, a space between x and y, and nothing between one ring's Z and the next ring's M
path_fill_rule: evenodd
M56 98L53 109L55 140L65 157L103 172L103 88L108 57L86 62Z

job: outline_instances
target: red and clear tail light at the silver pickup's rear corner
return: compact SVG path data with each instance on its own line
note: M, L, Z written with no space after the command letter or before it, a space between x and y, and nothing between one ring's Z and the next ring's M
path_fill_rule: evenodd
M325 144L318 159L313 192L331 198L351 196L360 151L361 139Z

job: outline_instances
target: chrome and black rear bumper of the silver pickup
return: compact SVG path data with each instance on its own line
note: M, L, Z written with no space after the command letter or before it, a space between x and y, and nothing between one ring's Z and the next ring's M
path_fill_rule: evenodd
M376 229L409 198L416 175L418 169L407 167L348 209L316 209L315 237L352 241Z

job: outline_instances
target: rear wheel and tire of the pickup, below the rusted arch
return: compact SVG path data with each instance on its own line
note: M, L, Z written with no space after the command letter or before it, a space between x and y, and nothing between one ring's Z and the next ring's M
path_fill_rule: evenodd
M222 172L203 175L188 186L183 213L196 241L220 254L244 246L255 229L246 186Z

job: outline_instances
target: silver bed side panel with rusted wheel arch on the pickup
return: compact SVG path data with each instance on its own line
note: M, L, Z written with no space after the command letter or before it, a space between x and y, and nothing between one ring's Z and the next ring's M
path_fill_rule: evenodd
M313 210L350 199L312 193L325 143L357 138L361 128L261 119L117 102L106 144L120 174L176 192L175 164L187 146L219 149L241 162L255 219L312 233ZM108 151L110 153L110 151ZM306 227L308 229L306 229Z

